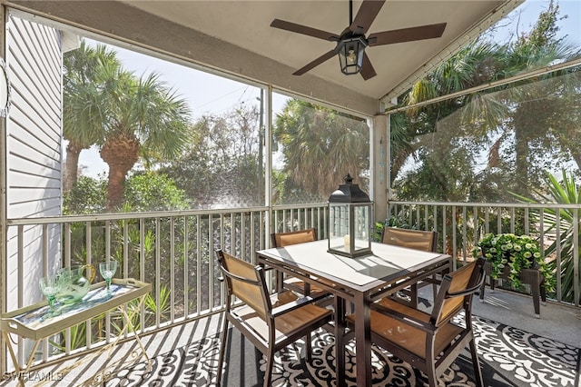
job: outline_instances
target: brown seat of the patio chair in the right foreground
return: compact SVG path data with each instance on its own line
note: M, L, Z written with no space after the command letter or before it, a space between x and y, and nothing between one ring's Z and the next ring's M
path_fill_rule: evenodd
M388 298L380 300L379 303L386 308L409 315L410 317L418 319L424 323L429 322L428 313L423 313L417 309L403 305L402 303L389 300ZM347 321L352 324L355 323L355 315L348 315ZM463 328L458 327L453 323L447 323L441 326L436 335L434 352L439 353L444 351L450 342L452 342L462 331ZM371 333L379 336L387 342L390 342L392 345L396 345L399 348L414 353L422 359L426 358L426 339L428 334L417 327L408 323L402 323L384 313L371 310ZM374 339L372 339L372 341L375 342ZM386 349L389 351L389 346L386 347Z

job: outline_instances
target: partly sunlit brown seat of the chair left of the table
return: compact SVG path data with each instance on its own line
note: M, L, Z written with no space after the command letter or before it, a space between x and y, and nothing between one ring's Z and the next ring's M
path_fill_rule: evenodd
M276 308L277 306L291 303L297 299L298 297L294 293L283 292L273 294L271 296L271 303L272 307ZM258 313L246 305L233 308L231 313L232 315L235 315L241 323L251 326L255 335L263 342L268 342L268 325ZM276 342L284 340L286 337L300 331L305 326L310 325L331 313L332 311L330 309L321 308L320 306L309 303L300 306L300 308L289 313L283 313L280 316L275 317L275 326L277 328L275 332Z

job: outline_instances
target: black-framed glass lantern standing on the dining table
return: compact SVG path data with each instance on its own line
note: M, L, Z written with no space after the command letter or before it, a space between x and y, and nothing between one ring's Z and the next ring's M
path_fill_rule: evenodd
M329 253L350 258L370 254L373 203L350 174L343 180L329 197Z

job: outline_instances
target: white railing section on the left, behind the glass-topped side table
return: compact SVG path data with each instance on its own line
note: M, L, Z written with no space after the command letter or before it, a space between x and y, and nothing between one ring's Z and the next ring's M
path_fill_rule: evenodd
M9 219L7 234L12 235L9 243L15 246L10 250L16 251L9 262L17 266L13 273L18 275L10 281L3 279L3 294L17 300L10 309L24 307L25 303L42 299L35 283L38 277L51 273L51 268L85 263L96 266L105 257L112 257L120 263L115 278L135 278L153 284L151 297L138 313L139 321L134 322L138 332L161 330L222 310L222 283L214 257L217 249L252 262L254 252L270 247L269 230L314 227L320 238L325 238L326 219L324 203L276 207L270 211L268 207L254 207ZM28 249L37 246L33 268L29 267L31 257L25 256L27 246ZM55 250L60 253L54 253ZM94 281L100 281L98 275ZM8 293L9 289L15 289L15 293ZM77 348L98 347L114 334L119 318L108 313L98 321L66 330L50 352L63 357L78 353ZM13 338L18 340L17 357L23 363L29 355L26 350L30 351L30 343ZM40 348L44 351L38 360L54 358L48 355L47 342ZM5 343L2 351L7 354ZM9 356L2 358L8 360ZM0 368L5 372L11 365L2 362Z

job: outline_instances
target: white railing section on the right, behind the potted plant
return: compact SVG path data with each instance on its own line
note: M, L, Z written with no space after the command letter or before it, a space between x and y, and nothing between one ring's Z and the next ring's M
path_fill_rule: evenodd
M541 249L550 252L547 259L556 264L555 273L562 273L556 275L556 293L548 297L579 306L580 211L579 204L394 201L389 203L388 219L437 231L438 248L461 261L471 257L473 247L485 233L528 234L537 238L543 242Z

